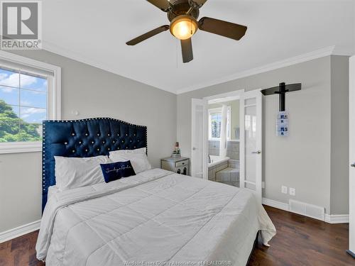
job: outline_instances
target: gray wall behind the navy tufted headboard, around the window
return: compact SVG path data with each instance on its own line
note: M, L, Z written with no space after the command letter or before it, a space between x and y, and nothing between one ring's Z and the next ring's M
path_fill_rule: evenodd
M46 51L18 55L62 67L62 118L109 116L148 126L148 159L159 167L176 141L175 94ZM119 64L119 62L117 62ZM79 111L79 116L72 111ZM0 155L0 232L40 219L40 153Z

